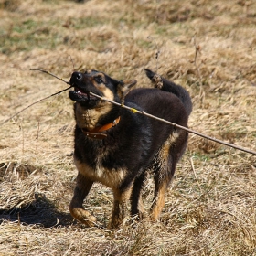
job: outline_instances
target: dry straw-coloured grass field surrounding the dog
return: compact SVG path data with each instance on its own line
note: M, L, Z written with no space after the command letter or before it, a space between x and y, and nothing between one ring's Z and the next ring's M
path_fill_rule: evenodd
M150 87L144 68L189 91L189 127L256 151L256 2L0 0L0 255L256 255L256 156L189 135L158 222L106 226L112 192L85 202L103 225L69 215L72 71ZM144 187L145 208L153 181Z

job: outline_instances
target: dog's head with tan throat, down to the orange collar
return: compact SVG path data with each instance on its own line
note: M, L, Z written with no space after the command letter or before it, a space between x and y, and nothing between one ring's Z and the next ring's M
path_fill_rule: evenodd
M121 103L136 81L114 80L102 72L91 70L74 72L69 83L74 87L73 91L69 91L69 98L76 101L75 119L78 126L83 131L94 131L115 120L120 109L108 101L101 101L90 92Z

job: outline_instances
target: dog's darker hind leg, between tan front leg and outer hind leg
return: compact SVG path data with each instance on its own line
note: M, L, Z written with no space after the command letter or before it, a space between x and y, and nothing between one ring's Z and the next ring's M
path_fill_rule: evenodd
M131 215L137 215L139 219L144 215L144 203L142 200L142 188L146 172L144 171L140 176L137 176L133 183L133 190L131 194Z

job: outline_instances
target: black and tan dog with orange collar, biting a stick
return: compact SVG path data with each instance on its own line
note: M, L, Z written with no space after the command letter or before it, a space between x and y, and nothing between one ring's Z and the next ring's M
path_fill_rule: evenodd
M164 207L165 191L187 146L187 132L90 95L93 92L187 126L192 111L187 91L148 69L146 74L155 88L130 91L135 80L113 80L96 70L74 72L71 76L74 91L69 92L69 98L76 101L77 123L74 161L79 173L69 210L75 219L88 226L93 226L96 219L82 204L93 182L112 188L111 228L123 223L129 199L131 214L143 215L141 192L149 169L155 179L151 219L158 219Z

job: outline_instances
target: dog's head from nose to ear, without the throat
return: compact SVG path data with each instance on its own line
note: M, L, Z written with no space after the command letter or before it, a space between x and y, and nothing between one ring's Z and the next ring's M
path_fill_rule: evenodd
M96 108L101 103L101 99L92 96L90 92L111 101L121 102L136 84L136 80L114 80L96 70L73 72L69 82L74 87L74 91L69 91L69 98L88 109Z

